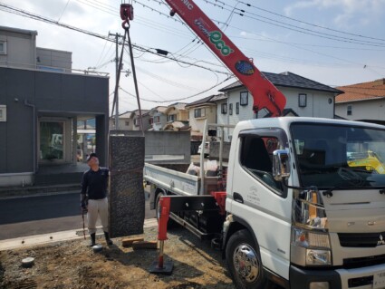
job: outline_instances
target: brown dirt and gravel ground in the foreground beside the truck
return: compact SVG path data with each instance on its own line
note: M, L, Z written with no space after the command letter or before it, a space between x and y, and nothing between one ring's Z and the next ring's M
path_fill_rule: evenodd
M145 229L146 240L156 240L157 227ZM168 232L165 260L174 262L172 275L149 274L157 250L133 250L121 246L121 238L100 253L88 247L89 239L0 252L0 288L6 289L112 289L112 288L223 288L234 286L221 253L184 228ZM21 266L34 257L34 266Z

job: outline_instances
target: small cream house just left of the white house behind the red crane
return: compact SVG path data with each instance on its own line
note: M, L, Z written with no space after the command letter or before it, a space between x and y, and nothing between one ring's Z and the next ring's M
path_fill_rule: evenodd
M208 123L215 123L217 121L216 100L223 96L223 93L218 95L210 95L204 99L194 101L186 105L192 139L202 139L206 120Z

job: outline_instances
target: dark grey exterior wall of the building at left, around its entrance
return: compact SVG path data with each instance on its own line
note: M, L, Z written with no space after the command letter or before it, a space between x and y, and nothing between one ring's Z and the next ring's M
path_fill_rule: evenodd
M97 153L107 165L108 78L0 67L0 88L7 109L0 122L0 174L34 171L41 117L96 116Z

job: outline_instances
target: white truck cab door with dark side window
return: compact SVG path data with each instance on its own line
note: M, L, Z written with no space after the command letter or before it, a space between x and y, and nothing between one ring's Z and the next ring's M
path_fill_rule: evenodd
M249 130L239 135L233 175L232 214L252 228L268 269L288 278L291 196L272 174L275 149L288 148L284 130Z

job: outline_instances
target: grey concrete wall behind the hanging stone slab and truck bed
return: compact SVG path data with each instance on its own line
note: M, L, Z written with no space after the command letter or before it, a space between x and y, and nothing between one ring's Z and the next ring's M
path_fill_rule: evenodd
M111 130L111 135L141 136L141 131ZM190 163L189 131L145 131L146 162L155 164Z

